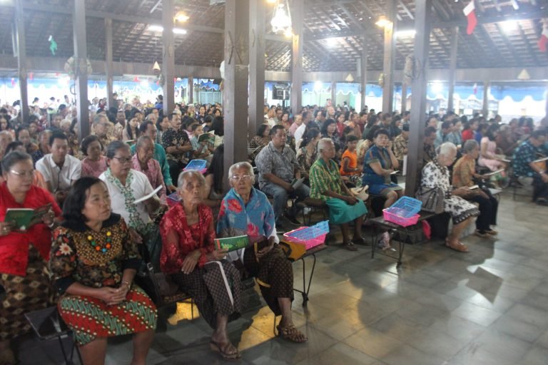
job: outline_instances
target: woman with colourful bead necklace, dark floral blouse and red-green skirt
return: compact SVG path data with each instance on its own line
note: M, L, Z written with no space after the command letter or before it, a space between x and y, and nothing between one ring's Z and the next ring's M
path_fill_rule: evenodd
M111 211L106 185L98 178L78 180L63 217L49 267L61 294L59 314L74 333L83 363L103 365L107 338L134 334L131 364L146 364L156 307L133 283L141 257L126 222Z

